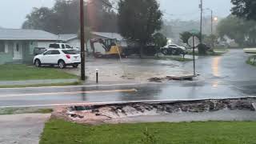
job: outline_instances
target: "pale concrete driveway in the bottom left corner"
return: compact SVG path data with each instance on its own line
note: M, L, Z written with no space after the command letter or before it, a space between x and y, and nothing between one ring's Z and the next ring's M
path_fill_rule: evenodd
M38 144L44 123L50 114L15 114L0 116L0 143Z

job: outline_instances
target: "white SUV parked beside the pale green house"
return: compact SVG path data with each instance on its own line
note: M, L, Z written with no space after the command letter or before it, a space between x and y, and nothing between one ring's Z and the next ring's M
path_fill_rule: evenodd
M36 67L58 65L61 69L66 66L76 68L81 63L81 57L78 51L73 49L48 49L43 54L36 55L33 62Z

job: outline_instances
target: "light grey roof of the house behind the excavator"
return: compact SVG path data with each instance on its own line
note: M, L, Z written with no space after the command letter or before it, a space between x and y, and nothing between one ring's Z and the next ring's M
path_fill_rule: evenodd
M103 38L116 38L118 41L124 39L121 34L117 33L105 33L105 32L92 32L92 34ZM70 41L74 38L78 38L78 34L60 34L60 39L64 42Z

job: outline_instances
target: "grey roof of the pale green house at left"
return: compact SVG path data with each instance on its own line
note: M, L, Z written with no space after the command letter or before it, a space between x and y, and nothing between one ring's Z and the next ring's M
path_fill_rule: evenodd
M44 30L0 29L0 40L58 40L58 35Z

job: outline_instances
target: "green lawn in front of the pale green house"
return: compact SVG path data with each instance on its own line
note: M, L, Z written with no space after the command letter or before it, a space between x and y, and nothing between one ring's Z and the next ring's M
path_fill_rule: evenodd
M0 65L0 81L20 81L35 79L78 78L56 68L36 68L26 65Z

